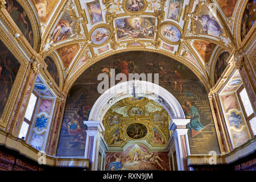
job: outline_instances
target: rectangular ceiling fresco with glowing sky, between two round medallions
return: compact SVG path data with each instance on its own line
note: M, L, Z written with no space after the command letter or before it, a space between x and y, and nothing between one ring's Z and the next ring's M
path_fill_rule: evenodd
M115 20L118 39L154 38L155 18L130 17Z

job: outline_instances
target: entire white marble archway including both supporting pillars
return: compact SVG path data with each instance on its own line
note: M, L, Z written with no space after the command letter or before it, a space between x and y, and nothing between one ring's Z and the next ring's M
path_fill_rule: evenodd
M166 150L168 150L168 147L170 147L170 141L173 140L174 142L172 144L175 145L177 154L175 160L177 160L178 169L184 170L186 166L184 159L190 154L187 135L188 129L186 128L186 125L190 119L185 119L181 105L170 92L168 92L162 86L141 80L122 82L106 90L106 92L104 92L93 105L92 110L90 111L88 119L89 121L84 121L84 124L88 127L85 156L90 158L92 161L92 169L97 169L96 164L98 164L99 160L99 151L108 150L108 144L103 138L100 137L100 133L104 131L104 127L102 125L104 115L110 109L110 107L112 107L118 101L121 101L124 98L133 97L134 95L136 97L146 97L153 100L164 107L164 109L167 111L171 118L171 124L168 129L174 132L173 136L171 137L175 138L169 139L168 146L166 145ZM137 145L137 143L138 141L133 141L127 144L123 149L126 149L127 146L129 146L129 150L131 150L131 147L133 147L133 150L143 150L140 148L143 148L145 143L142 142L142 146ZM102 147L102 145L105 146ZM144 150L146 149L144 148ZM150 156L149 153L147 154Z

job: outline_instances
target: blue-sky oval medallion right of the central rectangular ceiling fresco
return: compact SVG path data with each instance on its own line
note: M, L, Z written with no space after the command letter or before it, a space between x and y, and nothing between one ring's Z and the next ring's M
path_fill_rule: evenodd
M159 36L167 43L177 43L180 40L180 30L170 23L160 26Z

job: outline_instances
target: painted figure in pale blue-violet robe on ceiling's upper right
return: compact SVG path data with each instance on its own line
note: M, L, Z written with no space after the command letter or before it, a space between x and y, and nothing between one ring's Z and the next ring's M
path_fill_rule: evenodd
M202 15L196 16L195 19L203 26L200 32L207 31L208 35L216 36L217 38L222 34L221 27L216 20L214 20L213 16Z

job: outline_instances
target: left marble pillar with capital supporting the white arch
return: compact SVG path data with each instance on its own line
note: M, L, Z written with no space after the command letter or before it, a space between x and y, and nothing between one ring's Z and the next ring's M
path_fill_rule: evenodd
M104 126L101 121L84 121L84 124L87 126L85 158L90 159L90 170L96 171L101 132L104 131Z

